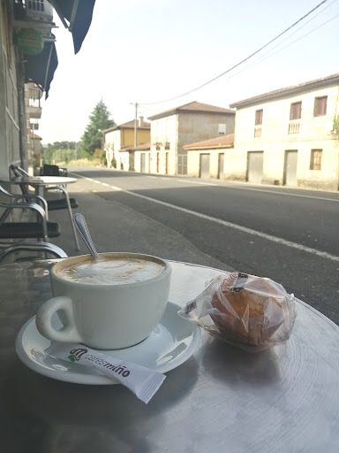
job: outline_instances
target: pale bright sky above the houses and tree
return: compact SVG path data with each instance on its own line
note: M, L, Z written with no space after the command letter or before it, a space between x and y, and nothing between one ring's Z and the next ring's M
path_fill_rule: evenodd
M80 2L81 3L81 2ZM77 55L55 15L59 60L41 103L42 143L80 140L102 99L119 124L198 101L229 104L339 73L339 0L96 0ZM173 97L177 97L171 101ZM162 102L168 101L168 102Z

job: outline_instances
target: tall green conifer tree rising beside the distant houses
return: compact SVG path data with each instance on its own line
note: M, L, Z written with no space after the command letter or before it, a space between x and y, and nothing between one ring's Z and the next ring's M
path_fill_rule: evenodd
M81 137L80 148L93 155L96 149L102 148L102 132L104 129L116 126L113 119L109 119L110 113L102 99L95 105L89 115L89 123Z

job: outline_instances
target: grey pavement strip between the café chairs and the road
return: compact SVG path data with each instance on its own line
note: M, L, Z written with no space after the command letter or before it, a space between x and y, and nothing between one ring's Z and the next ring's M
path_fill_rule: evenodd
M72 176L72 174L70 174ZM106 189L106 188L105 188ZM107 201L100 196L98 185L79 178L68 186L70 196L76 198L79 207L73 212L82 213L90 230L97 251L129 251L146 253L165 259L185 261L233 271L213 257L202 253L175 230L140 214L122 203ZM102 187L100 191L102 191ZM107 190L113 190L107 188ZM50 242L61 247L69 257L88 253L79 237L80 250L76 250L68 212L51 211L49 220L57 222L61 235Z

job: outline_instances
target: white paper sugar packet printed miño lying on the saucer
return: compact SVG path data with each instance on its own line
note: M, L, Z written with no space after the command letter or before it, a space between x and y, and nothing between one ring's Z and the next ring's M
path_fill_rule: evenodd
M161 372L108 356L83 344L51 342L45 352L66 362L71 361L100 370L105 376L129 388L144 403L150 401L166 379Z

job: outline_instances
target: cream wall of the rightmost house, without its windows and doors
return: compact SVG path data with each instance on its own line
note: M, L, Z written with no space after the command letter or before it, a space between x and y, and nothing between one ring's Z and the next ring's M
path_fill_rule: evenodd
M332 134L339 113L339 87L329 86L267 103L240 108L236 115L235 146L225 154L225 179L246 180L247 153L264 152L263 183L284 183L287 150L298 150L298 187L338 189L338 136ZM327 114L313 116L315 97L328 96ZM288 134L290 104L302 103L298 134ZM255 111L263 110L261 136L254 137ZM310 170L311 150L322 150L321 170Z

